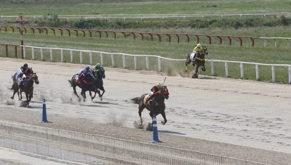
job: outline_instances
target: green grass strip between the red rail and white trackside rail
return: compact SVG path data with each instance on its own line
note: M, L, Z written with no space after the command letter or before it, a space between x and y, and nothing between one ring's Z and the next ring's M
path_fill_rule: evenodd
M0 33L1 38L7 44L19 44L18 33ZM180 44L176 42L158 42L157 40L152 41L141 41L140 38L133 40L128 37L126 39L119 36L117 39L112 38L82 38L82 37L67 37L67 36L53 36L51 34L25 34L24 35L25 45L39 46L39 47L58 47L58 48L69 48L69 49L82 49L82 50L96 50L104 52L121 52L128 54L137 55L160 55L167 58L185 59L187 53L191 52L193 47L196 45L196 41L190 43L182 42ZM208 39L200 38L201 43L207 43ZM260 40L258 40L260 41ZM245 41L248 45L250 42ZM285 41L286 42L286 41ZM283 46L279 49L275 49L273 46L263 48L263 42L258 42L255 47L251 46L238 46L239 42L234 42L232 46L227 44L219 45L218 40L213 41L213 44L206 44L209 50L209 58L229 60L229 61L245 61L245 62L257 62L257 63L271 63L271 64L291 64L290 49L284 48ZM247 45L246 44L246 45ZM283 44L283 43L282 43ZM286 43L285 43L286 44ZM275 50L275 51L274 51ZM271 52L271 53L270 53ZM5 47L0 46L1 57L5 56ZM18 55L20 56L21 51L18 49ZM32 59L31 49L26 49L26 58ZM13 47L9 48L9 56L14 57ZM40 60L40 51L35 49L35 60ZM111 55L103 54L104 66L112 66ZM53 50L54 61L60 61L60 50ZM79 52L73 53L73 62L79 63ZM44 49L44 60L50 61L50 53L48 49ZM123 67L122 56L114 55L115 66ZM70 51L64 51L64 62L70 62ZM89 64L89 53L83 52L84 64ZM93 53L93 63L100 62L99 53ZM134 69L134 58L126 56L127 68ZM158 71L158 60L157 58L149 58L149 69ZM162 70L174 70L176 73L183 72L185 69L184 61L169 61L161 60ZM146 58L137 57L138 70L146 69ZM189 71L193 70L192 65L189 65ZM240 77L240 66L237 63L229 63L229 77L239 78ZM210 63L206 62L206 72L201 72L204 75L211 75ZM275 67L276 70L276 82L288 83L288 69L286 67ZM215 76L225 76L224 63L214 63L214 74ZM271 67L259 66L259 79L264 81L271 81ZM256 79L255 65L244 64L244 77L245 79Z

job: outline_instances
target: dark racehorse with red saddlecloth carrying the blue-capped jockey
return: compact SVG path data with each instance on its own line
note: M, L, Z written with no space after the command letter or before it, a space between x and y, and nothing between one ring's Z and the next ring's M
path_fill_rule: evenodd
M83 77L83 80L80 81L80 83L76 83L76 78L78 77L78 73L74 74L71 80L68 80L68 82L71 84L71 86L73 87L74 90L74 94L78 97L78 101L80 102L80 97L76 92L76 86L78 86L79 88L82 89L81 91L81 96L83 97L83 102L85 102L86 97L86 91L89 91L90 93L90 97L91 97L91 101L93 101L92 96L91 96L91 92L90 91L94 91L95 94L98 93L99 97L101 97L100 95L100 90L98 90L94 84L93 84L93 76L91 71L89 72L89 74L87 74L85 77Z

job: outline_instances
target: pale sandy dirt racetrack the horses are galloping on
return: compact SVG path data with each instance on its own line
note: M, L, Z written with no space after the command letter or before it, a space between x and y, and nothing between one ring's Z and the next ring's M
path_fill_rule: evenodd
M11 103L10 78L28 63L37 73L31 108L20 107L17 94ZM83 64L52 63L0 58L0 121L38 125L149 143L152 132L134 128L138 105L130 98L149 92L167 77L170 93L165 101L168 122L157 116L160 145L207 152L268 164L291 164L291 85L199 76L167 76L152 71L105 67L103 101L78 102L67 82ZM77 88L77 93L81 92ZM47 117L40 123L42 98ZM73 101L70 101L70 98ZM23 95L25 99L25 95ZM142 113L143 124L151 122Z

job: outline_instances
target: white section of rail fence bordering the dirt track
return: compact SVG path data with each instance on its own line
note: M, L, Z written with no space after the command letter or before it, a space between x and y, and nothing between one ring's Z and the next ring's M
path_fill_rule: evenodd
M132 55L132 54L125 54L125 53L110 53L110 52L101 52L101 51L91 51L91 50L78 50L78 49L64 49L64 48L48 48L48 47L36 47L36 46L23 46L23 55L24 58L26 58L26 48L31 48L32 52L32 60L35 60L35 49L39 49L37 52L40 52L41 60L44 60L44 49L49 50L50 54L50 60L54 61L53 59L53 52L52 50L60 50L61 55L61 62L64 62L64 50L70 51L70 62L73 63L73 51L79 52L79 59L80 63L83 64L83 53L87 52L89 53L90 58L90 64L93 65L93 54L92 53L99 53L101 65L104 65L104 54L111 55L111 66L116 67L114 55L121 55L122 56L122 64L123 68L127 68L127 62L126 62L126 56L133 56L134 57L134 69L137 70L138 64L137 64L137 57L146 57L146 70L150 70L150 60L149 57L155 57L158 61L158 70L162 71L162 64L161 59L165 60L171 60L171 61L186 61L186 59L172 59L172 58L165 58L158 55ZM259 65L261 66L269 66L271 67L272 71L272 82L275 82L275 66L281 66L281 67L288 67L288 77L289 77L289 83L291 83L291 65L290 64L261 64L261 63L253 63L253 62L242 62L242 61L226 61L226 60L209 60L205 59L205 61L210 62L211 65L211 75L214 76L214 62L223 62L225 66L225 76L229 77L229 70L228 70L228 63L238 63L240 67L240 75L241 78L244 78L244 67L243 64L253 64L255 65L255 72L256 72L256 80L259 80ZM200 70L199 70L200 73ZM198 74L199 74L198 73Z

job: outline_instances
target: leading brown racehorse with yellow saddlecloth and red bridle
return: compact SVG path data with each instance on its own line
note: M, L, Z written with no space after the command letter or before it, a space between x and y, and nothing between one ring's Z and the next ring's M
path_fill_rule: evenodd
M143 94L140 98L137 97L131 99L133 103L139 104L138 114L140 116L140 126L143 125L142 112L145 108L150 111L149 115L151 116L151 118L153 118L153 115L157 116L158 114L161 114L164 118L164 121L162 121L161 123L165 125L167 123L167 119L165 114L166 106L164 101L165 99L169 99L169 91L167 86L163 85L159 90L158 95L153 98L153 101L151 101L149 105L146 105L146 99L149 97L149 94Z

